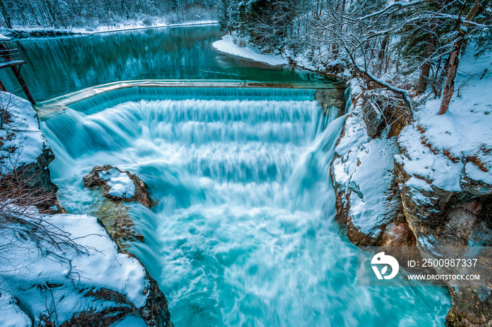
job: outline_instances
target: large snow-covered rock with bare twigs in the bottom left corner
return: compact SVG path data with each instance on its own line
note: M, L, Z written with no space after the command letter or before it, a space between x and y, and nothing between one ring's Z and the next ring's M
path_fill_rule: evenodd
M17 211L8 205L1 215ZM133 255L117 251L96 218L40 215L34 207L20 218L24 223L1 220L0 306L7 319L109 326L133 315L171 326L155 280Z

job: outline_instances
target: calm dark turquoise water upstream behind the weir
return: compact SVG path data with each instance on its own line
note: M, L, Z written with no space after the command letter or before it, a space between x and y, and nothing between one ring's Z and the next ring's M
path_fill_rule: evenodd
M27 65L21 74L41 102L82 88L134 79L324 80L311 72L269 67L214 51L219 25L12 41ZM0 69L7 91L20 90L10 69ZM24 97L24 93L17 95Z

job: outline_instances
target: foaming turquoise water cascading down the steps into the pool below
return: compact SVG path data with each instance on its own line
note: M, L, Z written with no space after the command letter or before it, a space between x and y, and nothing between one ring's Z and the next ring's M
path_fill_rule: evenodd
M175 326L444 326L446 289L356 286L333 220L336 108L322 116L311 90L188 91L79 102L41 124L69 212L98 206L82 187L95 165L147 183L157 204L130 205L145 237L132 251Z

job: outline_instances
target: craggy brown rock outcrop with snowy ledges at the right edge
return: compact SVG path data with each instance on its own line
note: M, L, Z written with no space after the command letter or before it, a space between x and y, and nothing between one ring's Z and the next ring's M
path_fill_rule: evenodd
M426 248L492 246L492 185L486 182L491 179L486 171L481 171L485 167L439 151L424 139L410 142L423 132L417 124L403 130L395 160L406 220L417 243ZM417 160L439 166L415 167ZM491 276L490 251L475 251L481 265L489 267L481 277ZM425 258L432 259L432 251ZM436 272L446 269L436 267ZM447 326L492 326L490 285L448 286L453 308Z

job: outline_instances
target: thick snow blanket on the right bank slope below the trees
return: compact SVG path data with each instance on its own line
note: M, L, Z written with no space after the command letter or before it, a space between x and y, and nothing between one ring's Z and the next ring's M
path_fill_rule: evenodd
M461 192L464 171L474 180L492 182L492 53L475 59L472 45L468 48L448 112L437 115L441 99L428 100L415 112L415 123L401 132L406 154L396 158L408 174L450 192Z

